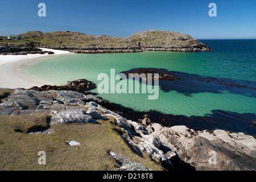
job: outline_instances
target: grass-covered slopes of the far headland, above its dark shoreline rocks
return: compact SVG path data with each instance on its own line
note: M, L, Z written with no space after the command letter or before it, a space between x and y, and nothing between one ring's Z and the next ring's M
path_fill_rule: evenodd
M40 35L40 36L39 36ZM188 41L180 41L181 36L191 38L188 35L180 34L178 32L171 31L143 31L133 34L127 38L118 38L112 36L93 36L83 34L80 32L72 31L53 31L53 32L40 32L40 31L28 31L19 36L25 37L23 40L2 40L1 44L7 44L9 46L24 46L33 45L36 47L52 47L52 46L66 46L66 47L91 47L91 46L105 46L105 47L127 47L138 45L139 42L143 42L141 46L152 45L176 45L185 46L190 44ZM30 38L30 37L34 38ZM176 40L178 39L178 40ZM191 38L192 39L192 38ZM127 40L132 40L131 42ZM195 39L194 39L195 40Z

